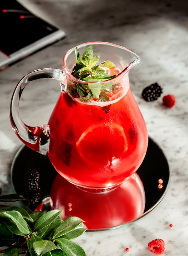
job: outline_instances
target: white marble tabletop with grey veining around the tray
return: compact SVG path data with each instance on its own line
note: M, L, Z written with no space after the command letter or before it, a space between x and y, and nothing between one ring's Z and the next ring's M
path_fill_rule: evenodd
M30 11L62 28L66 39L0 72L0 187L12 191L10 168L21 141L9 121L12 92L20 78L42 67L60 67L71 47L108 41L132 49L141 63L130 71L130 84L148 133L164 150L170 185L164 199L148 215L115 230L86 232L76 239L88 256L150 256L148 242L162 238L164 255L188 255L188 1L187 0L19 0ZM2 39L1 39L2 40ZM13 38L14 43L16 38ZM163 95L177 98L166 108L159 98L147 103L143 88L159 83ZM54 83L54 82L53 82ZM33 88L35 85L33 85ZM59 86L42 81L30 89L20 115L31 125L48 121ZM45 106L45 107L44 107ZM152 166L151 166L152 168ZM173 227L170 228L169 224ZM130 251L126 252L125 248Z

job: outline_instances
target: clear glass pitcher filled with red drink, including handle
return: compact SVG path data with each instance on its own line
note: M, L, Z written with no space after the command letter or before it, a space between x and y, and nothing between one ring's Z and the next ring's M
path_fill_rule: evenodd
M81 56L91 45L100 63L115 63L111 79L83 81L74 76L75 51ZM116 188L137 171L148 147L146 124L128 77L139 61L125 47L89 42L64 55L62 70L30 72L20 80L11 99L15 134L29 148L48 155L55 170L80 189L101 193ZM61 92L48 124L31 127L20 119L19 101L27 84L43 78L56 79Z

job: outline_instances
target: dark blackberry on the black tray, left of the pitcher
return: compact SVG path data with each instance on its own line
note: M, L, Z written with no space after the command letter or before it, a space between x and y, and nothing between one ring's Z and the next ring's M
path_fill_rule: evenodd
M29 200L30 209L33 210L40 203L40 173L35 169L29 169L25 174L25 197Z

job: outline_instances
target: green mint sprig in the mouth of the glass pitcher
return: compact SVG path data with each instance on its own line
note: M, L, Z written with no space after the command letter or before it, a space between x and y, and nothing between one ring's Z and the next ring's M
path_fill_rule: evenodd
M114 78L116 75L110 75L106 73L102 67L113 68L116 67L111 61L104 61L97 64L100 60L99 56L93 56L93 45L89 45L88 48L80 55L78 48L75 48L76 63L73 67L72 75L82 81L88 82L87 84L76 83L70 88L70 92L73 97L80 98L81 101L87 101L89 99L97 99L100 101L108 101L109 97L106 92L112 91L112 82L97 83L99 81L106 81Z

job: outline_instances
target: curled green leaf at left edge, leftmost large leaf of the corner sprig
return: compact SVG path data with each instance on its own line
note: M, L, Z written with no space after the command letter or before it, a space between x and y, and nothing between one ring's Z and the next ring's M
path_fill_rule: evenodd
M18 211L0 211L0 217L8 218L9 230L16 235L24 236L30 234L27 222Z

